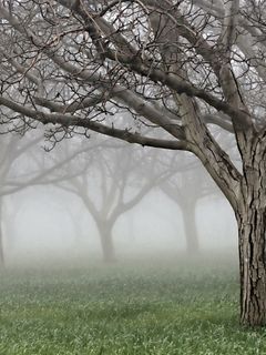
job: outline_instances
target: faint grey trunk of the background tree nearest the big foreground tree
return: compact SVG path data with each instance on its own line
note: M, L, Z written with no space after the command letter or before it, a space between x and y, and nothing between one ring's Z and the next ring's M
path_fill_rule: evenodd
M186 239L186 252L190 255L195 255L200 252L198 233L196 226L196 203L195 201L187 201L181 204L184 232Z

